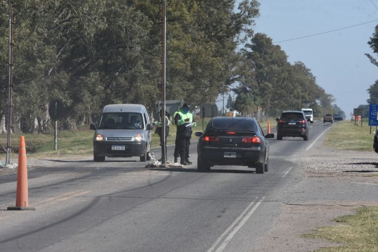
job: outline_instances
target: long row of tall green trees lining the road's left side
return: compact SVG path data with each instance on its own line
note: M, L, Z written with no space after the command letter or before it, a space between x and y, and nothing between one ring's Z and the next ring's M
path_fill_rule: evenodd
M166 99L192 106L233 91L234 108L339 109L304 63L290 64L264 33L253 32L257 0L166 0ZM161 99L160 0L13 0L13 132L48 132L60 100L60 129L90 124L110 103ZM0 1L0 133L9 83L9 6Z

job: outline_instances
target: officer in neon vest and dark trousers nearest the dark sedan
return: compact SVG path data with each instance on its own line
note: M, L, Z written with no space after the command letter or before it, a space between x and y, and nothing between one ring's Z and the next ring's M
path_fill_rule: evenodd
M189 112L188 103L184 102L180 111L175 116L175 125L177 126L177 139L180 147L180 163L188 165L189 161L189 145L192 133L192 126L196 126L193 114Z

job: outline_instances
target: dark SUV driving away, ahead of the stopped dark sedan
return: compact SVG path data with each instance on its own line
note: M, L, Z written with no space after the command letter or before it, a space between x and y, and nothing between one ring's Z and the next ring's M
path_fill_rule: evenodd
M277 140L282 140L283 136L299 136L303 140L309 140L309 126L306 115L303 111L284 111L277 121Z

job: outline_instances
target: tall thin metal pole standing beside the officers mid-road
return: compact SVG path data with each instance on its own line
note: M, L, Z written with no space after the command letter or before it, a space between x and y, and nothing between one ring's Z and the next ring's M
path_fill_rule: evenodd
M165 63L166 63L166 19L165 19L165 0L162 3L162 50L161 50L161 164L165 164L167 160L167 154L165 152L166 142L165 142Z

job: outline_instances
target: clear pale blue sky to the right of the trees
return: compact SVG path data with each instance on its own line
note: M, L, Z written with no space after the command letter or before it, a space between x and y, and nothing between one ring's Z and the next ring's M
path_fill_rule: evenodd
M368 104L367 90L378 79L378 67L365 53L378 59L367 44L378 25L378 0L259 3L255 33L271 37L286 53L288 62L304 63L316 77L316 84L334 96L334 104L348 118L353 108Z

